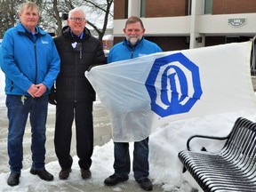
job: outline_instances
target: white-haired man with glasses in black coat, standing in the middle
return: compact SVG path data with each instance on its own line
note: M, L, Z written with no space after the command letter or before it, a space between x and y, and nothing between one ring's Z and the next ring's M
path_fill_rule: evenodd
M66 180L73 164L70 156L72 124L76 122L76 153L83 179L92 176L93 123L95 92L84 76L92 65L105 63L100 41L85 28L84 10L68 12L68 26L54 39L60 54L60 75L56 80L55 152L61 167L59 178Z

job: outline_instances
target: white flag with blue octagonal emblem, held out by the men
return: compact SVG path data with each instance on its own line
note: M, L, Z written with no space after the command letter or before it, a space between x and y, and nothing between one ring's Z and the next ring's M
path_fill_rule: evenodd
M252 42L158 52L85 76L108 111L113 140L139 141L173 120L256 108Z

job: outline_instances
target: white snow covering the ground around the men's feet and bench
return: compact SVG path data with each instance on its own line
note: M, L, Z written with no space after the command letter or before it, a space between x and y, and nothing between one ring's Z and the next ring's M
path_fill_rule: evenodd
M4 76L0 72L0 110L1 110L1 129L0 132L7 132L6 110L4 107ZM100 105L100 102L96 102ZM54 108L50 108L50 114L54 114ZM234 113L216 114L212 116L198 116L194 118L178 120L166 124L164 127L159 127L156 132L153 132L149 139L149 164L150 164L150 179L153 181L155 191L202 191L196 181L192 179L188 172L182 174L182 164L178 158L180 150L186 148L188 137L193 134L207 134L216 136L226 136L230 132L236 118L244 116L252 121L256 121L255 110L238 111ZM51 125L53 126L53 125ZM53 127L50 127L50 129ZM53 134L52 131L51 134ZM0 152L6 157L6 135L0 135ZM28 134L29 137L29 134ZM205 141L205 140L204 140ZM52 141L51 141L52 142ZM217 141L197 140L192 143L193 149L202 148L204 146L209 151L218 151L223 145ZM47 151L53 148L47 148ZM132 143L131 143L131 158L132 158ZM31 163L31 156L28 155L29 150L24 151L24 163ZM0 156L2 156L0 155ZM4 155L3 155L4 156ZM48 152L46 154L48 156ZM54 156L54 153L53 153ZM54 157L55 158L55 157ZM54 159L53 158L53 159ZM10 174L7 160L3 162L0 159L0 191L142 191L135 182L132 172L130 180L119 184L115 187L106 187L103 184L110 174L113 173L113 141L109 140L103 146L95 146L92 156L92 179L82 180L80 177L79 166L77 164L77 156L74 156L74 164L72 172L68 180L59 180L60 165L58 161L52 160L46 164L46 169L54 175L53 181L40 180L37 176L29 173L29 167L24 168L21 172L20 185L10 187L6 180ZM5 170L5 171L3 171ZM6 171L7 170L7 171Z

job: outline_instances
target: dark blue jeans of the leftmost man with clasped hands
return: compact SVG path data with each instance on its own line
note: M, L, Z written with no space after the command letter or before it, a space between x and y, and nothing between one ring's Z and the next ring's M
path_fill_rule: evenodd
M32 132L32 167L44 169L48 95L41 98L26 97L23 102L20 95L7 95L6 107L9 119L7 148L11 172L20 172L22 169L22 141L28 114Z

